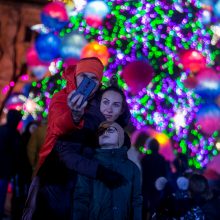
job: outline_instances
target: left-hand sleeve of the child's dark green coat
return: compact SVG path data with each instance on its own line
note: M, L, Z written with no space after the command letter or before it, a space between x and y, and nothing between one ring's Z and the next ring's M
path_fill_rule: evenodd
M89 219L89 204L92 193L92 180L78 175L73 197L73 219Z

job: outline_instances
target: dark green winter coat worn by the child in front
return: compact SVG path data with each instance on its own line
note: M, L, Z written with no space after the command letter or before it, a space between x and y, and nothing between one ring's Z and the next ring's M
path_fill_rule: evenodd
M97 161L122 174L127 184L110 190L102 182L79 176L74 193L73 220L141 220L141 177L127 158L127 148L97 149Z

